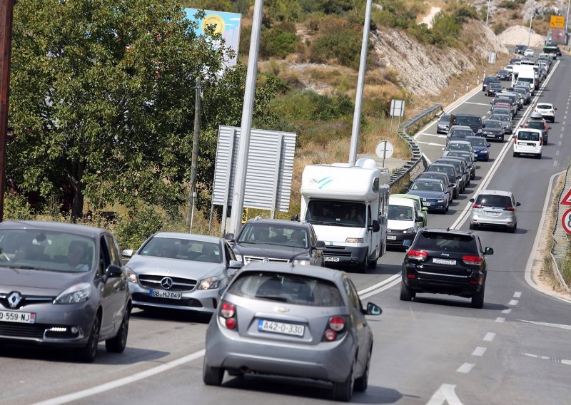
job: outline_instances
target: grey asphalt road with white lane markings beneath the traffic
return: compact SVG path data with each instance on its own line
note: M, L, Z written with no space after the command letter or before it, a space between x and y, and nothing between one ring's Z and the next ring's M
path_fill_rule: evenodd
M550 145L542 159L513 158L512 143L492 143L489 162L445 215L430 214L430 227L460 227L468 199L479 188L511 190L522 203L517 232L477 230L493 247L483 309L470 300L419 294L399 300L403 252L388 252L376 270L352 274L363 302L383 307L370 317L375 335L368 390L358 404L568 404L571 399L570 302L538 291L526 280L537 229L545 215L550 179L567 169L571 143L571 58L564 56L541 101L557 106ZM507 86L507 82L505 82ZM447 112L485 116L490 98L481 91ZM568 117L567 117L568 116ZM518 115L518 119L522 115ZM428 160L445 138L435 125L416 137ZM531 258L531 259L530 259ZM2 345L0 403L9 404L319 404L330 386L278 377L226 376L221 387L202 383L208 319L191 314L133 311L128 347L108 354L99 346L94 364L71 353Z

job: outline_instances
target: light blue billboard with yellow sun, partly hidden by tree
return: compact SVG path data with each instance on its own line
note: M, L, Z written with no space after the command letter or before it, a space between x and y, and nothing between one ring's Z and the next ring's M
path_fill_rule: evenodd
M206 30L206 26L216 26L214 31L221 33L222 38L226 40L226 46L230 46L230 48L236 52L234 58L228 61L228 66L236 65L238 61L238 46L240 45L240 22L242 15L226 13L224 11L204 10L206 14L204 19L197 20L195 14L198 12L198 9L184 9L184 11L189 20L198 21L198 29L196 30L196 34L198 35L205 35L204 31Z

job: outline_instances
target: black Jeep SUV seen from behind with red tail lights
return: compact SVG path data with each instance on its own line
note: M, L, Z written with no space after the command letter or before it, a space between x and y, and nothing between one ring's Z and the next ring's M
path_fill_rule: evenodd
M423 228L403 261L400 299L410 301L418 292L458 295L472 299L472 307L484 306L487 264L480 237L473 232Z

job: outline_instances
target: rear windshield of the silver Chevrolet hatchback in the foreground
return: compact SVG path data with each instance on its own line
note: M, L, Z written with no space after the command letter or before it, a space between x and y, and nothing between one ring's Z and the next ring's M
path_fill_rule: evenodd
M228 288L229 294L250 299L309 305L344 307L343 297L333 282L317 277L277 272L244 272Z

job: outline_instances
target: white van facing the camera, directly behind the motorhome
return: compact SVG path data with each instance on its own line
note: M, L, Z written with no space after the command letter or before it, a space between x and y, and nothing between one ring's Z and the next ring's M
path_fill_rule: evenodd
M388 197L387 247L408 248L423 222L410 198Z

